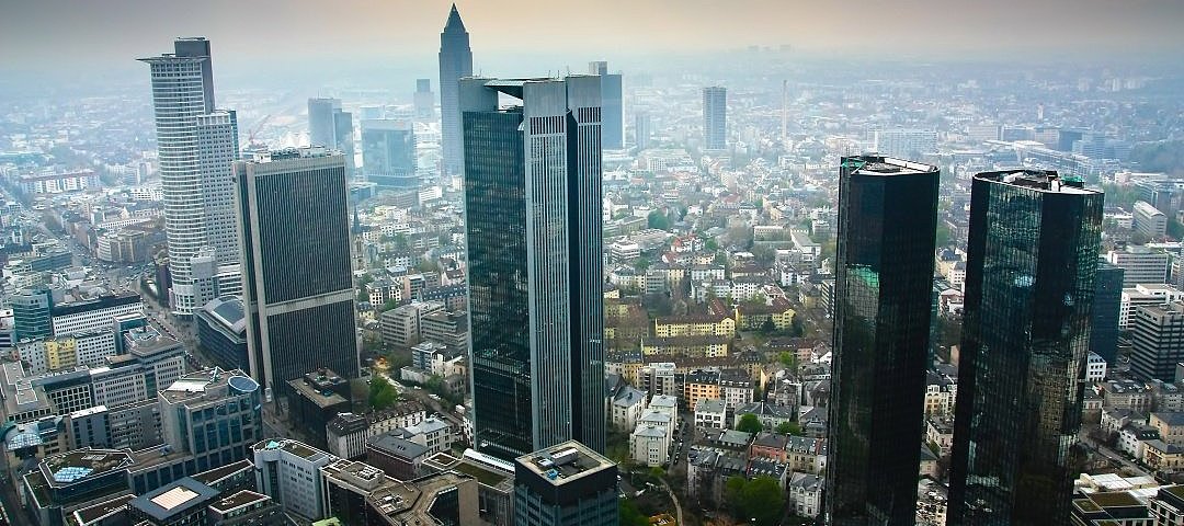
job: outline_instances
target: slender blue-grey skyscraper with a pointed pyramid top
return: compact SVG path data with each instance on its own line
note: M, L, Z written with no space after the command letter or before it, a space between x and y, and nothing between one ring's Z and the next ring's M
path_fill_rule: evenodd
M461 130L461 98L458 82L472 76L472 50L469 49L469 32L464 30L456 4L448 14L444 32L440 33L440 149L444 153L444 171L459 174L464 171L464 145Z

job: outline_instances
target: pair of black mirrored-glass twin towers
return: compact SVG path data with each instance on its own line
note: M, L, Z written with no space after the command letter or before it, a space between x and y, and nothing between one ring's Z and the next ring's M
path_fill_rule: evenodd
M939 171L839 171L826 512L915 524ZM1067 524L1102 193L1056 172L974 175L948 525Z

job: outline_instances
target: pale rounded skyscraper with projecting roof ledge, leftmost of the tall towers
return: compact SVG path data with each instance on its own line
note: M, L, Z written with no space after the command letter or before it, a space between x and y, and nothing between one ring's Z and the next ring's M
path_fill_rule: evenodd
M153 109L172 280L169 306L191 316L200 308L191 259L214 248L219 263L240 261L230 163L238 159L234 111L214 109L210 41L182 38L174 52L142 58L152 72Z

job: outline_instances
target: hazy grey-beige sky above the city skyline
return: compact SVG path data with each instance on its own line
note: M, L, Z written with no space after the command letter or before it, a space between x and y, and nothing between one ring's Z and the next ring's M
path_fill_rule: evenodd
M135 68L206 36L215 68L259 60L433 63L439 0L0 0L4 69ZM1184 53L1184 0L469 0L474 56L574 60L791 44L873 56ZM583 63L580 68L583 68ZM574 65L573 65L574 69Z

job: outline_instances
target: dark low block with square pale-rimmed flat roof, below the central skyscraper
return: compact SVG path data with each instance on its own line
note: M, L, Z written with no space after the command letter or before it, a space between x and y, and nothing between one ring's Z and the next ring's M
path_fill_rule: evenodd
M514 461L517 526L618 524L617 464L575 441Z

